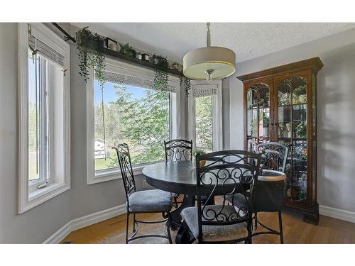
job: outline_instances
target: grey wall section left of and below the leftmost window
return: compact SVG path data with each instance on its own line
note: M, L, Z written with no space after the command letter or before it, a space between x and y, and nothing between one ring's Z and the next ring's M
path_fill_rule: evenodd
M42 243L70 220L71 193L17 215L17 25L0 23L0 243Z

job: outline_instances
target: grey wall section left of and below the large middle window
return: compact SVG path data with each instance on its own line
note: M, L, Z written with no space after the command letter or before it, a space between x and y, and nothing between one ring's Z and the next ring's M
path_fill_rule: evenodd
M71 35L78 28L70 26ZM71 170L72 170L72 218L79 218L97 211L126 203L122 179L87 185L87 133L86 94L87 84L80 77L79 57L75 44L70 43L70 108L71 108ZM137 187L143 185L136 177Z

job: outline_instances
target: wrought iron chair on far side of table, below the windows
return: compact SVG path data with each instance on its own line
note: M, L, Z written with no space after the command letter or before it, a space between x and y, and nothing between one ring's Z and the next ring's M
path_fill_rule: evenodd
M168 161L192 161L192 140L164 140L165 160ZM180 194L174 194L174 205L178 208Z

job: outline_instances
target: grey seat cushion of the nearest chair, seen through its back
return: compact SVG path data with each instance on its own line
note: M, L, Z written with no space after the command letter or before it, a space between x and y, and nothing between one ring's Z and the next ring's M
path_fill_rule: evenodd
M222 207L224 208L223 213L227 216L236 214L236 211L232 206L229 205L213 205L206 206L204 216L208 218L209 209L212 209L216 212L219 212ZM181 212L182 218L184 218L185 223L190 228L190 231L193 233L195 238L199 237L198 230L198 221L197 221L197 207L189 207L185 208ZM202 217L203 221L206 221ZM217 221L214 219L213 221ZM223 226L202 226L202 240L204 241L229 241L229 240L237 240L239 238L248 237L248 229L246 227L246 223L234 223L230 225Z

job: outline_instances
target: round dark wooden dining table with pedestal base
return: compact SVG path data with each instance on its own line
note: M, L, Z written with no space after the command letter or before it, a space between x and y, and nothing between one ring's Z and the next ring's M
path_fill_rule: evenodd
M174 209L170 212L170 228L173 230L178 229L175 243L190 243L193 240L193 235L189 232L186 232L183 228L182 217L180 214L183 209L190 206L195 206L197 194L197 177L195 165L192 163L192 161L188 160L158 162L144 167L142 173L146 177L146 182L152 187L167 192L184 195L182 204L180 204L177 209ZM285 174L283 172L274 170L263 170L263 174L259 174L258 178L271 179L273 177L280 178L281 176L284 178ZM207 188L205 194L208 195L210 192L211 189ZM201 194L200 190L199 194ZM213 202L211 204L213 204Z

